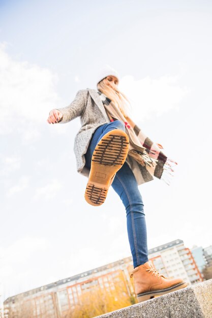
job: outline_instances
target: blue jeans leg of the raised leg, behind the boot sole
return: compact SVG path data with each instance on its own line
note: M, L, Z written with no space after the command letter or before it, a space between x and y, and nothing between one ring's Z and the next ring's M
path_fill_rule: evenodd
M100 139L109 131L113 129L120 129L125 132L125 124L123 121L120 120L114 120L109 123L105 123L101 126L99 126L96 131L94 132L92 139L90 140L87 152L85 153L85 166L90 169L90 164L92 160L92 155L94 152L94 149Z

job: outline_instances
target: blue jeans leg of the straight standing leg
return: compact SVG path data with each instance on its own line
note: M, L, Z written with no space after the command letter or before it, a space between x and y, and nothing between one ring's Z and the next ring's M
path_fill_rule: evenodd
M135 268L148 261L146 221L137 181L126 162L116 172L111 186L126 208L128 238Z

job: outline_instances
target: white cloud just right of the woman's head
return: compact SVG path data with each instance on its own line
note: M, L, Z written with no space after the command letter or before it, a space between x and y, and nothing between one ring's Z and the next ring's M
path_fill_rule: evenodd
M147 76L135 80L128 75L120 80L119 88L129 98L136 118L143 120L149 118L153 112L160 115L171 109L178 109L181 100L190 92L189 88L178 83L180 77L181 74L177 74L163 75L158 79Z

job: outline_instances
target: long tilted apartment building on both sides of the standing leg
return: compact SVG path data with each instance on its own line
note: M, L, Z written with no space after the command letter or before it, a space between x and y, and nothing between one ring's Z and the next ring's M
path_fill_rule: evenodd
M189 284L203 280L189 248L175 240L148 251L149 262L166 277L183 278ZM5 318L62 318L80 303L80 296L90 289L108 292L115 284L126 294L134 294L132 257L92 269L5 300Z

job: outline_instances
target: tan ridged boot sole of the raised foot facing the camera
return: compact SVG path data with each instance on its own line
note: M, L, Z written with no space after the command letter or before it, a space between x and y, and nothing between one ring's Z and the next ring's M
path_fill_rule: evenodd
M119 129L106 133L96 145L85 189L87 203L100 206L105 202L114 174L122 168L128 155L128 135Z

